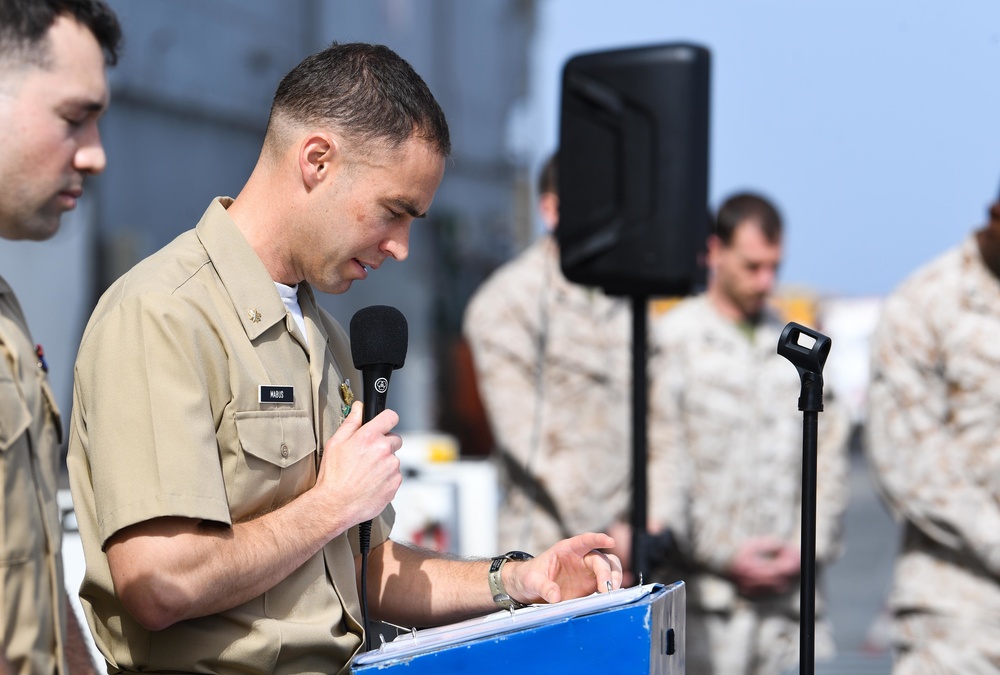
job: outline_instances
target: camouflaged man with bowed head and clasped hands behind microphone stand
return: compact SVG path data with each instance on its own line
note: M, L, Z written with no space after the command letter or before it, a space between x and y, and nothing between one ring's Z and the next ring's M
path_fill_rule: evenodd
M802 413L795 367L777 354L784 327L767 306L781 261L781 219L764 198L719 208L707 291L653 326L651 521L679 552L666 576L688 584L687 668L777 675L799 645ZM816 558L839 551L848 418L825 392L819 421ZM822 589L819 589L820 591ZM819 620L816 655L832 655Z

